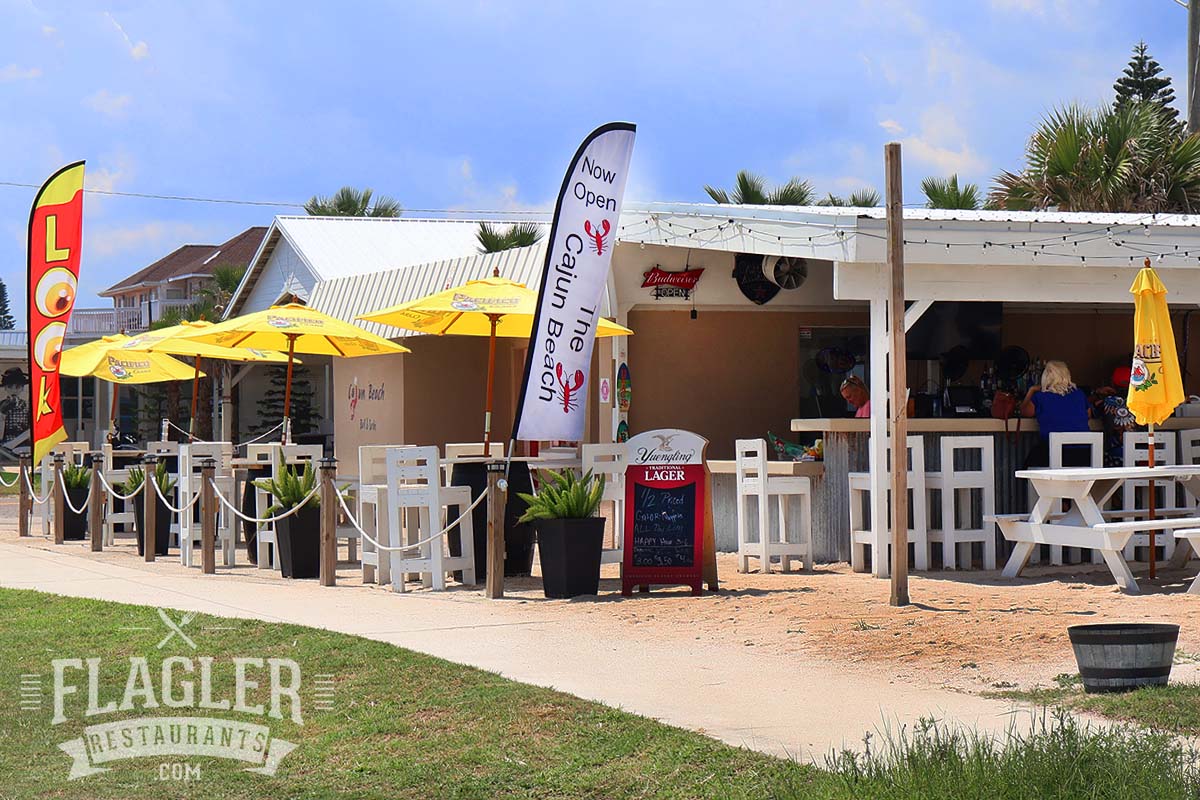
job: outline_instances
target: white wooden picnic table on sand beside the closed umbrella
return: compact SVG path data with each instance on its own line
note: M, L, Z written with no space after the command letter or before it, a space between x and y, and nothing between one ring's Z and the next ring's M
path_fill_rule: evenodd
M1039 545L1084 547L1104 557L1123 591L1138 594L1138 582L1124 559L1126 545L1134 535L1152 530L1175 531L1178 541L1170 564L1178 569L1187 566L1193 546L1200 546L1200 530L1195 530L1200 529L1200 516L1110 522L1106 516L1132 515L1128 511L1117 515L1104 511L1104 505L1126 481L1174 481L1183 485L1193 497L1200 497L1200 464L1026 469L1019 470L1016 477L1030 481L1038 499L1028 515L992 518L1004 537L1016 546L1004 565L1002 575L1006 578L1018 577ZM1189 591L1200 594L1200 577Z

